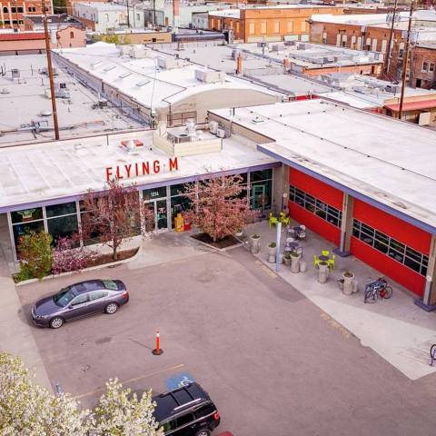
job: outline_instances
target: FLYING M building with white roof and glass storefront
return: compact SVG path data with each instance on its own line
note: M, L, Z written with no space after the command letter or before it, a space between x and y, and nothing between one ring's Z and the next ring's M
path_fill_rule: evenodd
M253 209L271 209L274 173L281 164L254 143L219 134L223 137L209 129L189 134L185 127L160 125L156 131L0 148L1 227L9 230L15 262L25 233L45 231L55 241L77 232L84 193L102 192L114 178L134 184L154 212L155 232L172 230L177 213L189 208L183 195L187 183L213 175L241 174L247 202Z

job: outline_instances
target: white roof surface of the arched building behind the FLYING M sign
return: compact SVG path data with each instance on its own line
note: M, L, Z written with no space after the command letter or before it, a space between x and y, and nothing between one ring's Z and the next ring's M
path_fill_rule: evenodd
M141 49L144 47L140 47ZM144 48L150 57L132 58L120 56L114 44L95 43L81 48L57 50L57 54L89 74L101 79L130 95L139 104L153 108L167 106L182 100L189 94L199 94L210 89L255 89L265 94L276 94L262 86L227 76L225 82L204 84L195 79L195 70L204 67L184 61L184 65L170 70L156 70L156 57L173 56L159 54Z

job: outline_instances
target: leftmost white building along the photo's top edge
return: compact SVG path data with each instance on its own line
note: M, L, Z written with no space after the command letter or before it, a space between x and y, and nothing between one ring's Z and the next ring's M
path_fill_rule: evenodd
M74 16L86 28L99 33L127 26L127 7L110 3L74 3Z

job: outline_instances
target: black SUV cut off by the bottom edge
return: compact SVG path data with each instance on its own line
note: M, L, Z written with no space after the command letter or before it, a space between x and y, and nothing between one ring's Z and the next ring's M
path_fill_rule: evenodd
M198 383L154 396L154 418L165 436L209 436L220 414Z

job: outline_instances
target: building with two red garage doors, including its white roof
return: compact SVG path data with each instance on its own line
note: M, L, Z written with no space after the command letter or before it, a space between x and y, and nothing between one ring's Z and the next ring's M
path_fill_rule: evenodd
M436 302L434 132L322 100L240 108L231 118L212 111L210 119L255 134L258 150L284 165L275 183L293 219Z

